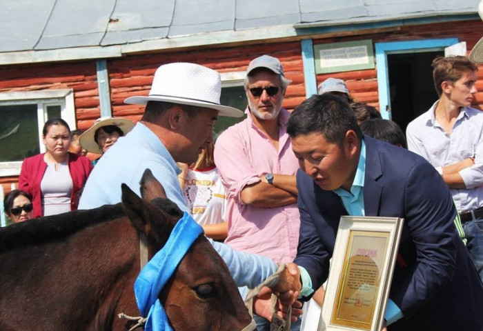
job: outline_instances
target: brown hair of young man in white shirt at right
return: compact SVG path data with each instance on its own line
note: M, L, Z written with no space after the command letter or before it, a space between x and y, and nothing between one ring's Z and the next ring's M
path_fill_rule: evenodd
M433 81L437 95L441 97L443 81L457 81L463 77L464 72L475 72L478 66L467 57L461 55L455 57L436 57L431 64L433 66Z

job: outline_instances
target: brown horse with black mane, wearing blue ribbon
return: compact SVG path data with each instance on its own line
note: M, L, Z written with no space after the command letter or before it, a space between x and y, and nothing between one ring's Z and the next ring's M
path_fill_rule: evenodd
M139 234L152 257L180 217L150 172L141 192L144 199L123 185L117 205L1 229L0 330L128 330L135 324L117 314L139 315L133 292ZM251 321L228 268L202 235L159 299L173 330L236 331Z

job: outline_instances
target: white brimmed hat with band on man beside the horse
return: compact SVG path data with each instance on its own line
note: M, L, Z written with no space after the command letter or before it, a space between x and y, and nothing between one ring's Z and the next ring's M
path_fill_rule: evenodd
M215 70L195 63L169 63L157 68L148 97L130 97L124 103L146 105L148 101L165 101L188 106L206 107L219 115L242 117L244 112L221 106L221 76Z

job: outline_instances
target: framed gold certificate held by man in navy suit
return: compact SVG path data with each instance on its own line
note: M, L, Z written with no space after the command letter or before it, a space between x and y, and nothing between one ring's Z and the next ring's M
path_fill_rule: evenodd
M340 219L318 331L379 331L404 219Z

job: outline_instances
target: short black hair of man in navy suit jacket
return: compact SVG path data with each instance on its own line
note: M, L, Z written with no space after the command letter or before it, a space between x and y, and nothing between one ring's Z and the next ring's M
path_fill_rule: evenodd
M302 102L290 115L287 125L292 138L319 132L330 143L342 143L348 130L362 139L361 129L346 99L328 93L313 95Z

